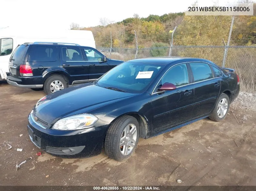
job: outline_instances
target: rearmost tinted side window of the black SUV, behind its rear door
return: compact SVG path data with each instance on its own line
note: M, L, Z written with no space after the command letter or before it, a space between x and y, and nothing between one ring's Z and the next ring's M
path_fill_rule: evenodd
M54 62L57 60L57 47L32 46L28 62Z

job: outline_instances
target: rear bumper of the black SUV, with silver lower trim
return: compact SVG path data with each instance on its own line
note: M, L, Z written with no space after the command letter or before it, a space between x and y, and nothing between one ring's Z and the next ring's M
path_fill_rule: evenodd
M7 76L7 83L19 88L42 88L43 84L32 84L34 80L32 78L19 79L12 76ZM30 84L31 83L31 84Z

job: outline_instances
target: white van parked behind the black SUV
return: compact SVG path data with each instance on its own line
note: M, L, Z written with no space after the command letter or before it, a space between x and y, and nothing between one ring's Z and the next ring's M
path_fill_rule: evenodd
M75 43L95 48L93 34L89 30L44 30L6 27L0 29L0 81L6 80L8 63L19 44L34 42Z

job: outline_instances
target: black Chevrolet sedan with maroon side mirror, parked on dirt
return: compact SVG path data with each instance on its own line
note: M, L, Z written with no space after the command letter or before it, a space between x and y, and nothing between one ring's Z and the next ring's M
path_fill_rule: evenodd
M124 62L95 82L40 99L28 115L32 142L50 154L100 154L123 161L139 138L209 117L225 119L239 77L209 60L182 57Z

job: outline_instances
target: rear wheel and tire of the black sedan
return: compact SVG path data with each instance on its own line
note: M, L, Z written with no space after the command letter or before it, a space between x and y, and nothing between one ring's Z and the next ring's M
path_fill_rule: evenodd
M209 118L213 121L222 121L226 118L229 110L229 97L227 94L221 94L215 103L213 111Z

